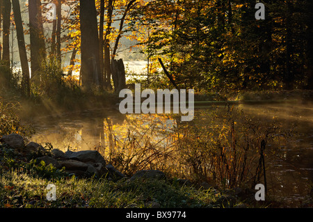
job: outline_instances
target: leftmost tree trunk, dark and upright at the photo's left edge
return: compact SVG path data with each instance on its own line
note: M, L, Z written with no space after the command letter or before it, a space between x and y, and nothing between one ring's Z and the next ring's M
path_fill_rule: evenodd
M7 70L10 70L10 13L11 1L3 0L3 54L2 61Z

